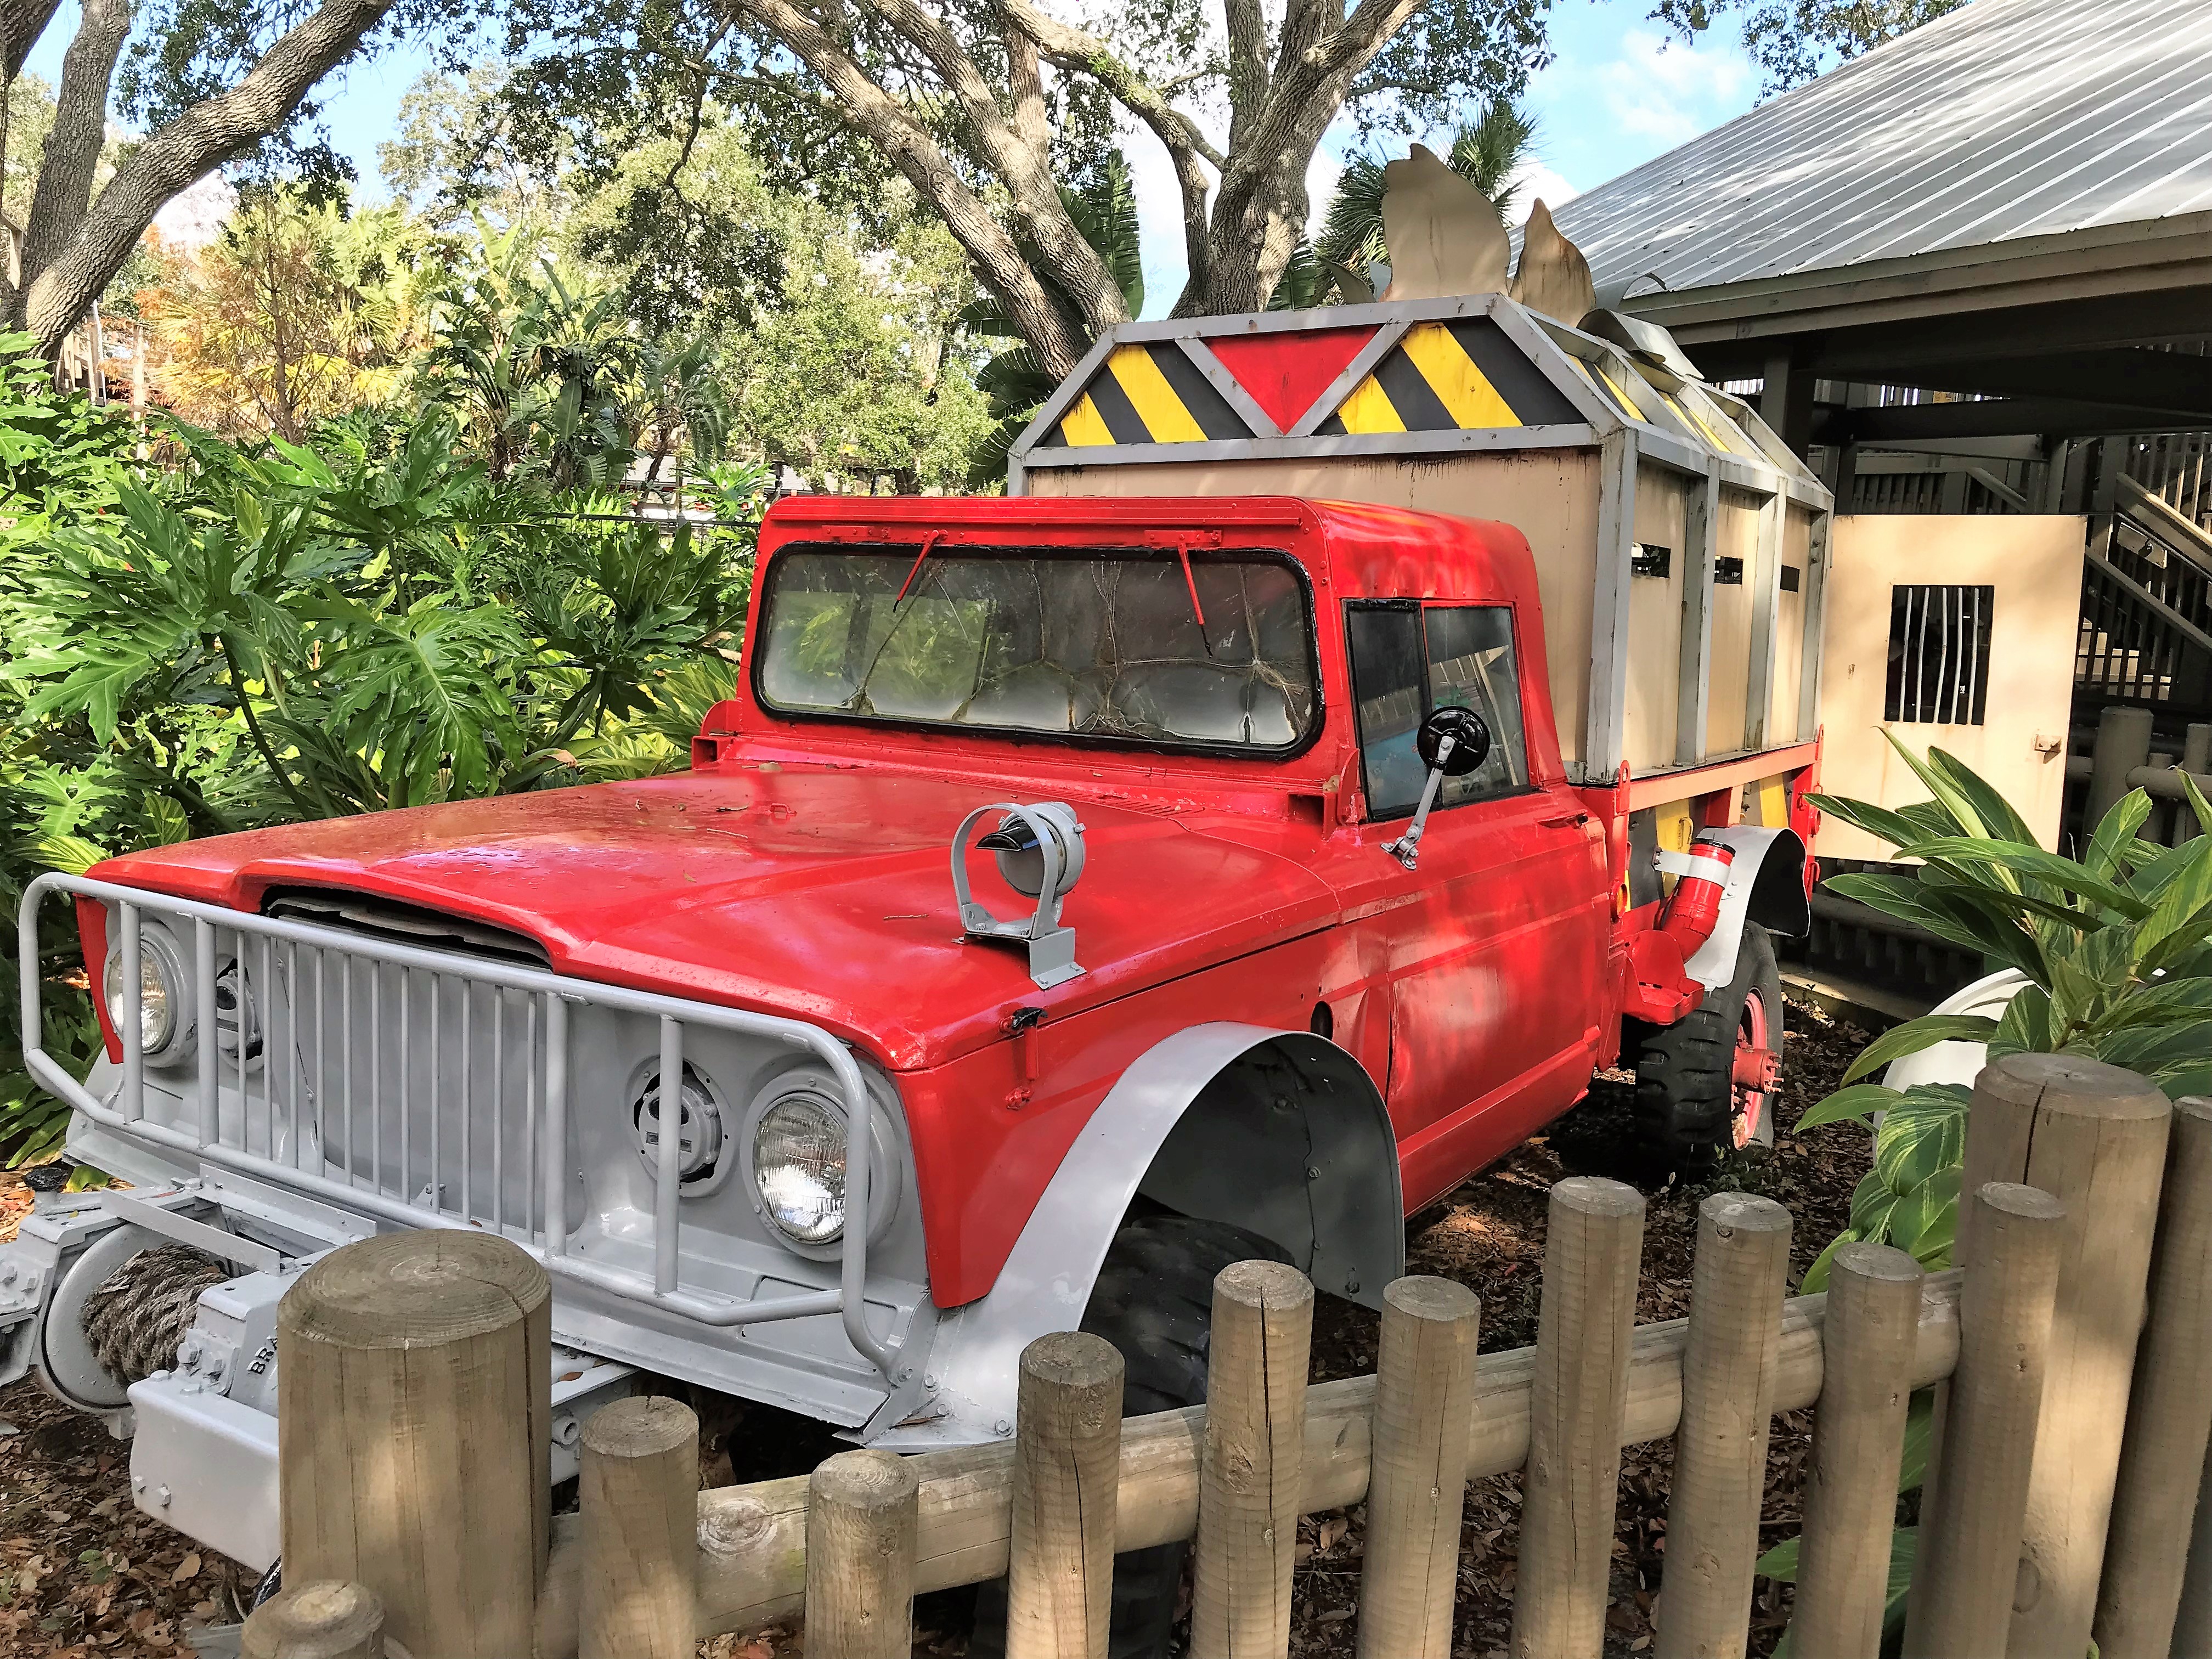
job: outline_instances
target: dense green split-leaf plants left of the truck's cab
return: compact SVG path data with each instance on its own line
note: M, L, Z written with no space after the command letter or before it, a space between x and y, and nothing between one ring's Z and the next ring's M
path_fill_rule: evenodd
M53 392L0 336L0 905L42 869L303 816L681 765L728 695L759 469L717 522L493 482L451 420L361 416L316 447L148 440ZM139 451L161 460L139 460ZM95 1026L66 909L42 918L44 1046ZM51 1157L62 1106L0 1026L0 1159Z

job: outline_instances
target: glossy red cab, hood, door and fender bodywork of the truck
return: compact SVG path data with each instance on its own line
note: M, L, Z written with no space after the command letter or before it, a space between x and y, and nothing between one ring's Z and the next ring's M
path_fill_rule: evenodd
M1119 1073L1197 1022L1307 1029L1327 1004L1389 1104L1409 1208L1582 1097L1619 1031L1628 790L1566 781L1517 531L1283 498L796 498L761 529L748 639L783 549L925 533L1287 553L1312 582L1318 737L1265 759L787 719L748 679L686 774L221 836L93 874L248 911L276 889L378 894L529 933L560 973L825 1026L898 1073L945 1307L991 1287ZM1515 613L1531 787L1440 812L1418 872L1380 849L1402 818L1365 823L1360 799L1343 606L1369 597ZM1051 991L1018 951L960 936L951 836L1002 799L1064 799L1086 825L1066 905L1086 971ZM989 863L971 869L1004 911ZM1009 1040L1018 1009L1044 1022Z

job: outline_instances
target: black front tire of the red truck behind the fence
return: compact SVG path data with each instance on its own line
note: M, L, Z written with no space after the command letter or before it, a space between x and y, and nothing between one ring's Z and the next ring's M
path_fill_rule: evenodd
M1283 1261L1283 1252L1225 1221L1152 1214L1126 1221L1106 1250L1082 1329L1121 1349L1121 1416L1206 1402L1206 1356L1214 1321L1214 1276L1237 1261ZM1113 1564L1110 1659L1166 1659L1188 1544L1126 1551ZM1006 1579L975 1593L969 1659L1006 1652Z

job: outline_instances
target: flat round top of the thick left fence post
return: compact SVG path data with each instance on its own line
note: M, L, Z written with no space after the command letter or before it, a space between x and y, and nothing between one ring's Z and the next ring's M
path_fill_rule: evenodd
M276 1305L285 1340L436 1347L504 1329L553 1296L526 1250L487 1232L420 1228L341 1245Z

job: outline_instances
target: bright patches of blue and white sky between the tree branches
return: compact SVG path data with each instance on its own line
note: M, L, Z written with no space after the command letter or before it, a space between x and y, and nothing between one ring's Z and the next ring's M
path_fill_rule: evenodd
M49 84L60 77L75 11L73 0L64 4L31 53L29 69ZM1648 11L1650 0L1555 0L1557 58L1528 84L1540 137L1524 199L1540 195L1557 206L1752 106L1759 73L1736 44L1732 20L1683 46L1666 40ZM323 91L332 142L354 159L369 192L380 190L376 146L392 137L400 97L422 69L420 53L398 51L345 71ZM1164 314L1183 283L1175 184L1150 137L1130 133L1126 148L1146 230L1146 312ZM1310 175L1316 210L1347 148L1343 133L1323 142Z

